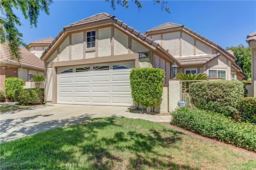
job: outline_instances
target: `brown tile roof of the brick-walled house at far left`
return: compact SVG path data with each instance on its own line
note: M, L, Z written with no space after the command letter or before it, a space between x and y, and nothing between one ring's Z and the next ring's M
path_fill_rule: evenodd
M20 64L22 66L26 66L28 68L36 68L38 70L44 70L44 61L40 60L36 55L25 49L24 47L20 47L20 55L22 59L20 60ZM5 42L0 44L0 62L10 62L14 64L18 64L17 61L11 59L11 53L8 48L8 43Z

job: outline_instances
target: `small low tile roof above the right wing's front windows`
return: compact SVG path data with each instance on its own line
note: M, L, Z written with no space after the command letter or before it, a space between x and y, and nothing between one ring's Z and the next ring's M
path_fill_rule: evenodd
M188 56L188 57L176 57L175 59L182 65L194 65L194 64L206 64L209 61L219 57L220 54L202 55L202 56Z

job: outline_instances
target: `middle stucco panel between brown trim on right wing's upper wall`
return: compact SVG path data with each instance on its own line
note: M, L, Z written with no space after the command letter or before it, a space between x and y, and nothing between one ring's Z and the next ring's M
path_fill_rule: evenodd
M182 56L194 54L194 38L182 33Z

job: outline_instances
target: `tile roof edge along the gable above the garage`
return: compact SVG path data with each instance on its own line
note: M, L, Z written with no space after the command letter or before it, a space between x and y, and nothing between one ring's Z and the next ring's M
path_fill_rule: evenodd
M154 47L157 47L159 43L154 41L153 39L146 37L143 33L140 33L140 31L137 31L133 27L130 27L128 24L124 23L123 21L119 20L116 18L116 16L110 15L106 12L100 13L100 14L95 14L93 16L90 16L88 18L85 18L83 20L71 23L63 28L62 31L60 31L59 35L56 36L56 38L52 41L52 43L49 45L49 47L42 53L41 59L44 57L44 55L47 53L47 51L52 47L52 45L60 38L60 36L65 32L66 29L70 27L75 27L75 26L80 26L80 25L86 25L88 23L94 23L98 21L104 21L104 20L112 20L114 23L117 23L124 29L128 30L130 33L138 36L138 38L142 39L142 41L146 41L147 43L153 45Z

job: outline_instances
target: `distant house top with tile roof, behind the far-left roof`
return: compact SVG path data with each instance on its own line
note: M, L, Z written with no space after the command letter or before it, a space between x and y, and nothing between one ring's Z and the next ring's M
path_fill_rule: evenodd
M52 37L34 41L28 44L28 50L40 58L44 50L48 48L48 46L50 45L50 43L52 43L52 41L53 41Z

